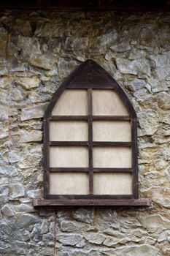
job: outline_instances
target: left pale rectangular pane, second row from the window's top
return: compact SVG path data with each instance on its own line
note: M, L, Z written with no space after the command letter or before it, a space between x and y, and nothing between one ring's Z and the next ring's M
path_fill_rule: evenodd
M50 121L51 141L87 141L88 122Z

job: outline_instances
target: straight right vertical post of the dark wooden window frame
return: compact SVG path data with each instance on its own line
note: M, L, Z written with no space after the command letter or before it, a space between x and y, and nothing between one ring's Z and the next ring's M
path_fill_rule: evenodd
M138 149L137 149L137 120L131 119L131 141L132 141L132 172L133 172L133 195L135 199L139 198L138 181Z

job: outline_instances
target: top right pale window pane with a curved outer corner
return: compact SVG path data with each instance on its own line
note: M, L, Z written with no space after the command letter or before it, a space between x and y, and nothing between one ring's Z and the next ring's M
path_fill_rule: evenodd
M113 90L93 90L93 115L128 116L123 102Z

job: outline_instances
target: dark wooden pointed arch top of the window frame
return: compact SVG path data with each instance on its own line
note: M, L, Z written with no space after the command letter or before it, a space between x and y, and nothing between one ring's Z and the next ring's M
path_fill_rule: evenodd
M123 101L123 105L128 110L130 118L136 118L136 112L134 110L131 101L128 96L123 91L122 87L117 83L117 81L112 78L109 73L99 66L95 61L88 59L87 61L80 64L77 69L75 69L66 80L63 81L61 86L53 94L50 104L45 111L45 118L50 116L55 103L61 96L65 89L114 89L114 91L119 95L120 99Z

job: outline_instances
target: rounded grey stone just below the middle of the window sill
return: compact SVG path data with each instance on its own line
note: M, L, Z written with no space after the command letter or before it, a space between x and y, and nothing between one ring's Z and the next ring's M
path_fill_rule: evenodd
M74 212L74 219L80 222L93 223L94 213L93 210L80 208Z

